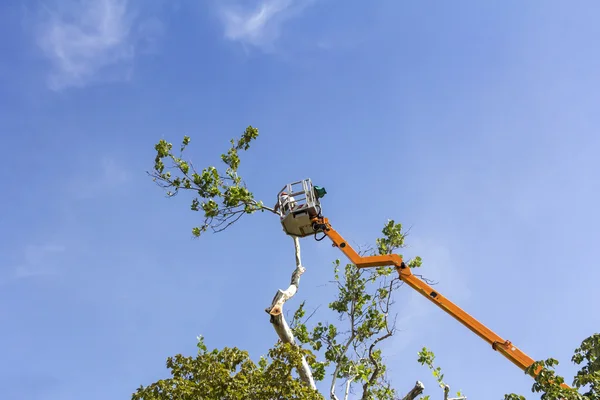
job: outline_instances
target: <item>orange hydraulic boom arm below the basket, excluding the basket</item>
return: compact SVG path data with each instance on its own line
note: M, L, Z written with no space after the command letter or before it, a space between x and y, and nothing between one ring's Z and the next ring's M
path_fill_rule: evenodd
M523 351L514 346L510 341L503 339L491 329L487 328L481 322L463 311L459 306L442 296L437 290L434 290L423 280L419 279L411 272L410 268L402 261L402 257L397 254L379 255L379 256L360 256L353 248L344 240L344 238L331 227L329 220L323 217L317 217L312 220L313 229L316 232L323 232L331 241L333 246L339 248L342 253L350 259L358 268L369 268L379 266L394 266L398 271L398 275L402 281L408 286L421 293L424 297L436 304L442 310L446 311L452 317L458 320L461 324L469 328L477 336L492 345L492 348L499 351L508 358L513 364L525 371L531 366L535 360L525 354ZM533 372L533 376L537 376L541 368ZM568 388L566 384L563 387Z

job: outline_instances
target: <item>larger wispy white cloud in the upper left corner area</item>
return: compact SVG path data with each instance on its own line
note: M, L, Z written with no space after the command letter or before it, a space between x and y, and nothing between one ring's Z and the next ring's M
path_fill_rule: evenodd
M136 17L128 0L64 0L44 7L37 40L53 65L50 87L128 79L140 39L160 32L140 29L147 24Z

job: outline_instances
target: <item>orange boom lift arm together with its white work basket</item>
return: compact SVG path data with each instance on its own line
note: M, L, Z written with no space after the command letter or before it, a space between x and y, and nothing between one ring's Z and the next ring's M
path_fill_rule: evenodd
M525 371L535 360L514 346L509 340L505 340L495 332L477 321L471 315L463 311L459 306L441 295L437 290L419 279L411 272L404 263L402 257L397 254L386 254L376 256L360 256L344 238L333 229L329 220L321 214L320 198L327 191L319 186L313 186L310 178L287 184L277 195L275 210L279 213L281 225L286 234L296 237L314 235L315 239L322 240L327 236L358 268L369 268L379 266L394 266L402 281L408 286L421 293L429 301L454 317L458 322L469 328L477 336L485 340L492 348L513 364ZM323 236L317 238L317 234ZM538 368L533 376L539 374ZM563 384L562 386L568 387Z

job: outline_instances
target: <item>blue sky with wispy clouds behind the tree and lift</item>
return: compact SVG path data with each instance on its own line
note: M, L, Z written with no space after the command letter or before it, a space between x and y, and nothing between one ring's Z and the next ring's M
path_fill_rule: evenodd
M8 0L0 5L3 398L129 398L166 357L276 341L264 308L294 268L276 218L193 240L188 199L146 176L160 138L218 162L246 126L241 173L273 202L325 186L357 244L388 218L406 256L536 359L598 332L597 2ZM327 243L303 241L301 299L326 304ZM531 381L409 288L386 344L400 392L430 347L470 399ZM242 332L241 334L238 332ZM539 396L537 397L539 398Z

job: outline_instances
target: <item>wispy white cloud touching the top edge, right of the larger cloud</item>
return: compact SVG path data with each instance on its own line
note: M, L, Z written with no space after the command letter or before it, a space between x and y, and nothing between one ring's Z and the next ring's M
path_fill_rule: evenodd
M254 3L254 7L248 7L248 2L220 2L219 15L225 28L225 37L271 51L281 34L283 23L297 17L313 1L260 0Z

